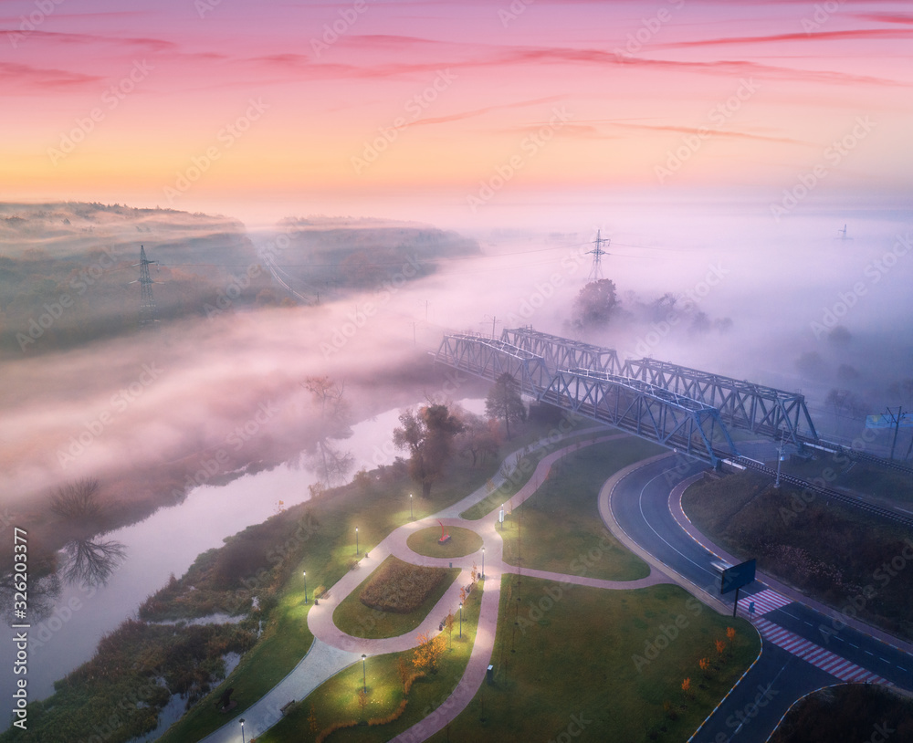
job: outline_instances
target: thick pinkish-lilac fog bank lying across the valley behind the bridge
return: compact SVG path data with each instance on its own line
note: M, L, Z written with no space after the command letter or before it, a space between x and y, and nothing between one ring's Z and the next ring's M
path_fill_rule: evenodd
M320 436L309 377L344 382L355 420L442 391L458 395L430 369L428 352L445 331L499 336L531 324L623 356L801 389L823 420L852 419L856 429L863 412L913 402L909 215L834 213L782 225L655 216L629 213L603 227L613 241L602 274L619 305L602 326L572 322L595 235L513 231L474 235L481 256L441 257L425 277L409 260L386 266L371 288L319 305L292 306L274 283L286 306L229 307L209 318L201 309L75 349L5 353L4 505L27 510L85 476L129 498L160 469L183 472L167 482L182 490L220 451L226 462L215 476L292 458ZM845 221L852 239L837 234ZM278 234L253 243L262 251ZM124 313L137 311L138 295Z

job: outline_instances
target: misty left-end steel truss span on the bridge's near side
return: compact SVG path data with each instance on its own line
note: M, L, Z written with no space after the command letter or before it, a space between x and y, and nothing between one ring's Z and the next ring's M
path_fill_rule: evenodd
M551 383L551 372L541 356L482 336L462 333L444 336L436 361L492 382L507 372L519 383L520 392L537 400Z

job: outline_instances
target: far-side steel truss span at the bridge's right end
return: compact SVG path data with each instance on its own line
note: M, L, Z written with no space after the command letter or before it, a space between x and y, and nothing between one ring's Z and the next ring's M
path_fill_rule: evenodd
M626 361L625 371L626 376L717 408L722 419L733 428L745 428L775 438L785 433L787 439L800 448L808 438L818 440L805 398L798 392L786 392L654 359Z

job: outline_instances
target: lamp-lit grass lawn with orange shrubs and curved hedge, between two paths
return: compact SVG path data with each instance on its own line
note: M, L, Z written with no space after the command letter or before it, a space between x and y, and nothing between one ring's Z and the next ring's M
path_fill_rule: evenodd
M277 725L257 738L257 743L299 743L314 740L316 735L311 732L309 722L311 708L318 733L344 720L362 721L362 725L346 727L333 733L331 743L383 743L427 717L447 696L450 696L466 670L476 638L482 589L483 581L478 581L477 589L469 594L463 606L462 639L457 636L457 625L452 637L453 649L445 651L435 674L426 675L415 681L409 691L402 717L385 725L369 727L363 724L365 720L393 714L401 704L404 694L397 664L400 658L405 658L411 665L414 654L412 650L367 659L365 679L368 704L363 714L358 704L358 692L362 688L362 664L358 663L333 676L315 689L307 699L293 706L289 714Z

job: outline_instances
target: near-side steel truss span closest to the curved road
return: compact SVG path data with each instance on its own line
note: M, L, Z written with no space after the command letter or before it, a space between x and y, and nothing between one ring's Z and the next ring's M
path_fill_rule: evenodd
M604 371L560 370L540 400L713 466L739 455L717 408L648 382Z

